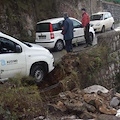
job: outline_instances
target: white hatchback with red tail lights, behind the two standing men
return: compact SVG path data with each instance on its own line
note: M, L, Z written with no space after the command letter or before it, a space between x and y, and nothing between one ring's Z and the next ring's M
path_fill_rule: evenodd
M70 17L70 19L73 21L74 25L74 39L72 41L73 44L84 41L84 29L81 22L75 18ZM61 25L63 21L64 18L53 18L38 22L35 42L48 49L55 48L56 51L61 51L65 45L63 35L61 34ZM92 41L94 37L94 29L90 27L90 38Z

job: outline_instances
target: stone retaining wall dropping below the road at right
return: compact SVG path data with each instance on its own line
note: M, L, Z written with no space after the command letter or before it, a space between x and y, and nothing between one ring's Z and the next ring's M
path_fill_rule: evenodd
M108 88L116 87L116 73L120 70L120 32L100 35L98 45L108 47L108 63L98 72L98 83Z

